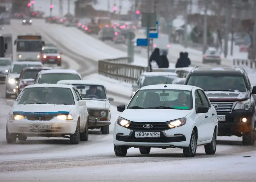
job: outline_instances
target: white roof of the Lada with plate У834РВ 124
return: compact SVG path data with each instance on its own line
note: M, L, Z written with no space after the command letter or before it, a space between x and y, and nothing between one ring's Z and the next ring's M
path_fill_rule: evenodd
M163 90L188 90L191 91L193 88L201 89L199 87L195 87L192 85L176 85L176 84L167 84L166 88L164 88L164 84L158 84L158 85L148 85L145 87L140 88L140 90L154 90L154 89L163 89ZM202 89L201 89L202 90Z

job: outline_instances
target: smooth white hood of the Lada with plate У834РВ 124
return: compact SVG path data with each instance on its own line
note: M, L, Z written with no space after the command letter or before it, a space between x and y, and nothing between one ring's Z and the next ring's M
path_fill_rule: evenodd
M134 122L165 122L184 118L190 112L176 109L126 109L120 117Z

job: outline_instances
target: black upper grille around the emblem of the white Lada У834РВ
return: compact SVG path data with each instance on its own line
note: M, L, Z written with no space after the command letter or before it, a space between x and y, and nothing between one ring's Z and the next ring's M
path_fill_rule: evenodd
M145 124L151 124L153 127L152 128L144 128L143 126ZM163 130L168 130L170 129L166 122L131 122L129 127L127 127L130 130L133 131L163 131Z

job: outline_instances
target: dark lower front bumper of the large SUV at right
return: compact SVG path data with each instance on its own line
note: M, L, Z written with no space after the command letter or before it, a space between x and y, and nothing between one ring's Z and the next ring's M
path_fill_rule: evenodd
M254 121L254 109L244 110L239 109L231 113L218 115L225 115L226 121L218 121L218 136L241 136L243 132L252 130L252 121ZM242 119L246 118L247 121L243 122Z

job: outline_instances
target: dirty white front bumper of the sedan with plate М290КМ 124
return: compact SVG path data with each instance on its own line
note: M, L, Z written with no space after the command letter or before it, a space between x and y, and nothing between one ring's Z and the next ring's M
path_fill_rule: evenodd
M29 129L29 124L34 125L51 125L51 130L34 130ZM74 134L77 122L75 120L59 120L53 118L50 121L31 121L27 119L8 120L7 128L9 133L26 134L29 136L38 136L39 134Z

